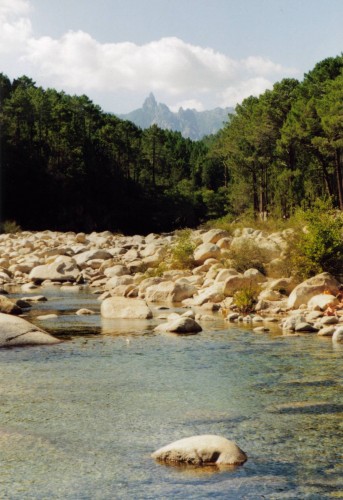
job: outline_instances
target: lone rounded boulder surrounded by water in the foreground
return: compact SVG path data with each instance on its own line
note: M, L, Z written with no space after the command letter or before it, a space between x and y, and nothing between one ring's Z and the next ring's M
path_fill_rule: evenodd
M161 462L192 465L242 465L248 459L236 443L211 434L180 439L151 456Z

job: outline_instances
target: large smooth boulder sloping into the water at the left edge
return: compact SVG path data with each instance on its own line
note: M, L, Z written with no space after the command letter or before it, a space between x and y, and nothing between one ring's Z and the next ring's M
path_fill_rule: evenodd
M0 313L0 347L58 344L61 342L23 318Z

